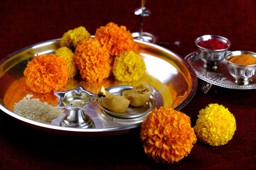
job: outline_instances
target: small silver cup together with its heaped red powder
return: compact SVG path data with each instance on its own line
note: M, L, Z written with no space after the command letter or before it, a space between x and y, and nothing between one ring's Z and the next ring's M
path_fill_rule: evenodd
M220 35L202 35L196 38L195 43L203 67L213 70L220 67L220 62L231 45L230 40Z

